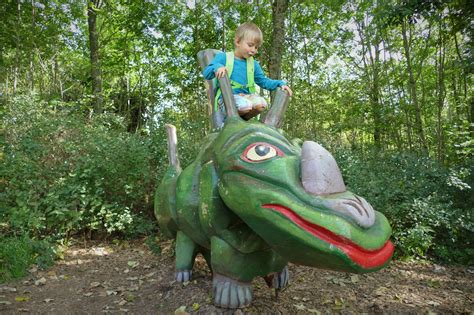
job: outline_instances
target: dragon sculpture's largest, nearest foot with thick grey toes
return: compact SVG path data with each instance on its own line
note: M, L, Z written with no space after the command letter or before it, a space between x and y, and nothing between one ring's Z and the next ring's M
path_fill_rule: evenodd
M214 304L224 308L242 308L252 302L252 285L220 274L212 279Z

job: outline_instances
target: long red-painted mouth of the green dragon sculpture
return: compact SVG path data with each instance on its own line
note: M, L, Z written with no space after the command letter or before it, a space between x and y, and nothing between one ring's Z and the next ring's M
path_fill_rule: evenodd
M283 214L306 232L339 248L353 262L364 269L381 267L392 257L394 246L390 240L387 240L379 249L367 250L341 235L337 235L322 226L306 221L290 208L278 204L264 204L262 208L271 209Z

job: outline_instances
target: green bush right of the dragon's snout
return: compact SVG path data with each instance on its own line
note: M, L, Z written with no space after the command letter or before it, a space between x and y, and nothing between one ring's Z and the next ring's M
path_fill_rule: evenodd
M389 219L399 256L472 261L474 213L468 168L448 169L409 153L340 149L335 155L348 188Z

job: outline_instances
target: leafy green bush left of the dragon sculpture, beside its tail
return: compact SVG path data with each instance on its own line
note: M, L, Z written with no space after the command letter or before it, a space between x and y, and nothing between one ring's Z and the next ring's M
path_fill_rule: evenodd
M70 104L28 96L9 105L3 123L3 234L58 240L143 229L157 169L148 137L127 133L118 116L86 119Z

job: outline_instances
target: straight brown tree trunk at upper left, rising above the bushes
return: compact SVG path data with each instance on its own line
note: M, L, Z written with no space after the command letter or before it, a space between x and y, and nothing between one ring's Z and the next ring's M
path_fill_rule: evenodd
M87 23L89 26L89 50L91 61L92 106L95 113L102 113L102 75L99 60L99 33L97 32L97 10L100 9L101 0L90 0L87 3Z

